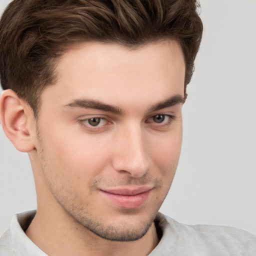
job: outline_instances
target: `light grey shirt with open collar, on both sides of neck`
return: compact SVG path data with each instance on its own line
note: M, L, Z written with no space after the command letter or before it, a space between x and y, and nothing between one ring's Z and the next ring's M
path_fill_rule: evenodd
M26 235L35 211L13 216L0 238L0 256L47 256ZM158 213L155 218L161 239L149 256L256 256L256 235L216 225L186 225Z

